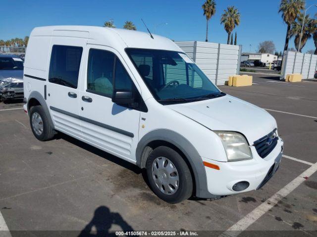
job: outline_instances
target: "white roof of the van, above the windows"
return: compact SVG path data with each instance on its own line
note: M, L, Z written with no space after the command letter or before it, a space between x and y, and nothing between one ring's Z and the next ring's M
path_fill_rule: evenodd
M153 34L152 34L153 35ZM102 44L111 47L151 48L172 51L182 50L165 37L149 33L96 26L46 26L37 27L32 33L34 36L76 37L88 40L88 43Z

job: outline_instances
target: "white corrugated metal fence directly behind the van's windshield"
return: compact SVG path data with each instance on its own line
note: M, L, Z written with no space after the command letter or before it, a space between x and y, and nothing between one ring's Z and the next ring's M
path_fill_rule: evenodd
M216 85L223 85L229 76L239 74L242 45L202 41L177 41L175 43Z

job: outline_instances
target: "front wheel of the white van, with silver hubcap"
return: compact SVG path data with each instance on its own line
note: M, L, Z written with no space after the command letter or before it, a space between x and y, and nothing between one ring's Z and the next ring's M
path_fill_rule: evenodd
M191 197L193 179L185 160L173 149L158 147L150 154L147 176L153 192L162 200L178 203Z

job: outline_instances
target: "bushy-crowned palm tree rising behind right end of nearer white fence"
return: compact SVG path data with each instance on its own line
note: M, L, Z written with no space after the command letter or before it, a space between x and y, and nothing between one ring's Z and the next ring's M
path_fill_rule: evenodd
M228 6L227 10L224 10L221 16L220 23L224 25L224 29L228 33L227 44L229 44L231 32L240 24L240 13L238 9L234 6Z

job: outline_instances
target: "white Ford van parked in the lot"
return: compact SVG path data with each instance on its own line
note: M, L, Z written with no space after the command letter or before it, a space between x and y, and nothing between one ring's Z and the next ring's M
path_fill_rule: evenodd
M170 203L257 190L282 156L272 116L221 92L157 35L35 28L24 94L37 139L59 131L145 168L153 192Z

